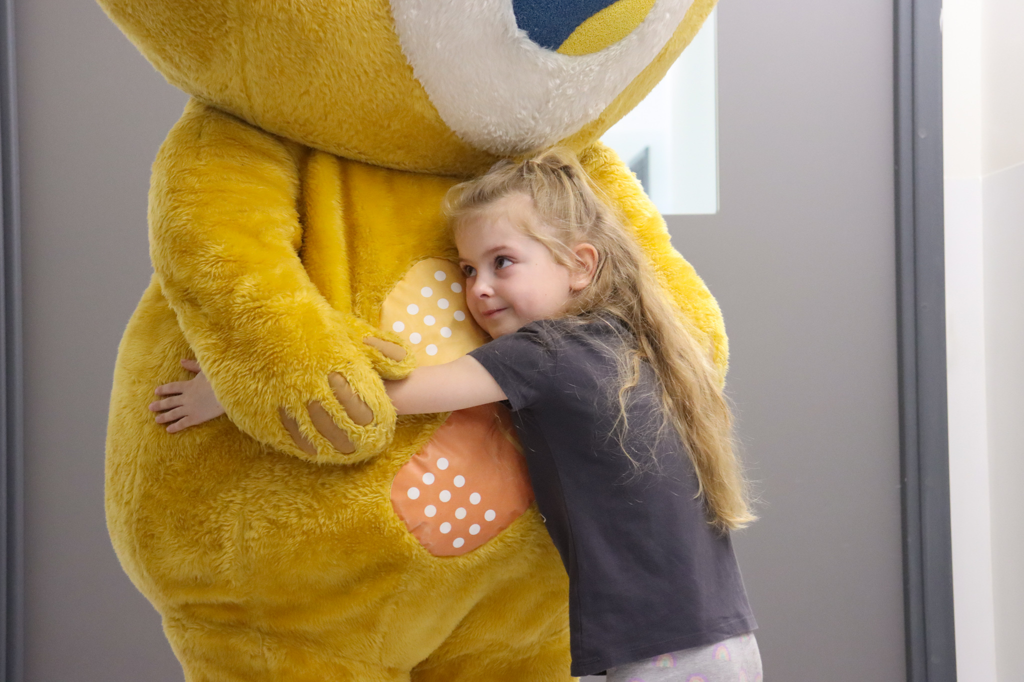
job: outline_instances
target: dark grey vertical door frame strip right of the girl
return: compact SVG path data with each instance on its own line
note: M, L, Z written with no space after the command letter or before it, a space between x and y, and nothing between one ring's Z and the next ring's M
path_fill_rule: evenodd
M896 0L896 211L908 682L954 682L941 0Z

